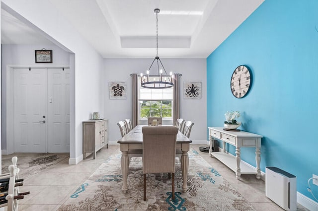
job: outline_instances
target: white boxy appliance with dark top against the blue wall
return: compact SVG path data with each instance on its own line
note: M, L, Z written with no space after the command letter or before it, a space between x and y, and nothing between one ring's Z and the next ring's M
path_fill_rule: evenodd
M277 167L265 169L266 196L286 211L297 211L296 176Z

